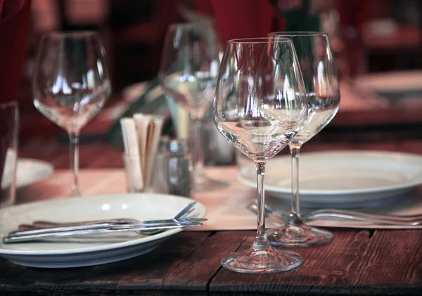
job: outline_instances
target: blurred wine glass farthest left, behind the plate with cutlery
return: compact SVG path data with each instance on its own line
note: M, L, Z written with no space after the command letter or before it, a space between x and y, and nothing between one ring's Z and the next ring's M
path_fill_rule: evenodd
M96 32L53 32L39 43L32 80L34 105L68 131L72 197L80 196L79 133L111 93L104 54Z

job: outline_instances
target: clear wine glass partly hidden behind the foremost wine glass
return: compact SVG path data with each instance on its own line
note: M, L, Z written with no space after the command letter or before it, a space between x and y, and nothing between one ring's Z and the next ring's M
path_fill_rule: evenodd
M293 41L305 81L308 116L303 129L289 143L292 157L292 202L286 225L270 229L271 245L307 247L333 240L328 231L307 226L300 217L299 155L304 143L324 129L337 113L340 103L338 77L335 71L330 39L319 32L274 32L270 37ZM328 180L327 180L328 181Z

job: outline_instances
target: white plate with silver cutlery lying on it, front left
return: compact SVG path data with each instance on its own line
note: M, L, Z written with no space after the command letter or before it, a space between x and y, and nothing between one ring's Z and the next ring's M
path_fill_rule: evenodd
M16 205L0 210L0 238L16 230L18 224L30 224L35 220L67 222L110 218L168 219L191 201L175 195L144 193L85 196ZM205 217L205 207L199 202L192 217ZM1 239L0 256L15 264L43 268L106 264L149 252L162 240L180 231L182 229L171 229L154 236L124 232L130 238L120 243L4 244Z

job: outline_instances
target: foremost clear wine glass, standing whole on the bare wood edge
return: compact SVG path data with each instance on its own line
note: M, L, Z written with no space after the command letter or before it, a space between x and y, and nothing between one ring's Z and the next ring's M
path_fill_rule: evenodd
M299 266L300 255L271 247L264 218L265 165L288 145L307 117L305 86L293 43L274 37L228 41L213 107L219 132L250 157L257 169L257 236L250 249L224 257L222 266L243 273Z

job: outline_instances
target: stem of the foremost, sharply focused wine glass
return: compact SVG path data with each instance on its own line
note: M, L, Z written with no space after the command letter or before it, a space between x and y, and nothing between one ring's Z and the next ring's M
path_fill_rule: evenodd
M258 227L257 236L253 242L252 249L268 250L270 245L265 234L265 195L264 195L264 175L266 162L255 162L257 167L257 188L258 188Z

